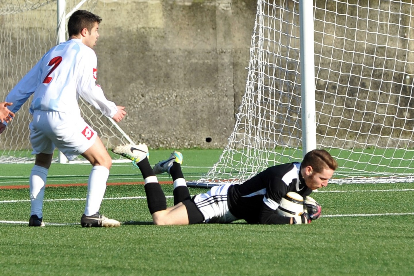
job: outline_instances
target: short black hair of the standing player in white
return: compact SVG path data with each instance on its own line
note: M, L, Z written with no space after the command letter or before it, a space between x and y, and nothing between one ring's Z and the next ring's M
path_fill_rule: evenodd
M95 22L99 24L101 21L101 17L91 12L77 10L70 16L69 21L67 22L67 32L69 33L69 36L72 36L80 34L84 28L87 28L89 34L91 34Z

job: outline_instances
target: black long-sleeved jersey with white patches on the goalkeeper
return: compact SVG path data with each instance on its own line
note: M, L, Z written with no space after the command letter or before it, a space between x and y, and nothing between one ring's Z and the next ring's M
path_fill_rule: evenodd
M305 197L312 190L306 186L300 174L301 163L288 163L267 168L241 185L233 185L228 191L231 214L248 223L286 224L290 218L277 214L282 197L297 192Z

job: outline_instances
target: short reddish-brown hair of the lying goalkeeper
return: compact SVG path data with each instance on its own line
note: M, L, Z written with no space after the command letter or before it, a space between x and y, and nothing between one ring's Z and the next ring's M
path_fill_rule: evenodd
M338 168L338 163L329 152L324 149L314 149L305 154L301 166L302 168L311 166L315 173L322 173L322 170L325 168L336 170Z

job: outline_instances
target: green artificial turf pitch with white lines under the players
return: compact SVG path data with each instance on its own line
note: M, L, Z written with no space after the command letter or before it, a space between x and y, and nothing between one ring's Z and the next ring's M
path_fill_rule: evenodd
M221 153L193 151L184 155L190 178ZM0 186L27 185L31 166L1 165ZM53 164L50 180L85 183L89 170ZM27 187L0 189L1 275L412 275L412 183L328 185L312 194L323 215L310 225L154 226L144 187L134 181L142 177L130 164L111 169L108 182L128 184L108 185L100 211L121 221L119 228L80 226L86 186L47 187L44 228L27 227ZM171 206L172 185L162 188Z

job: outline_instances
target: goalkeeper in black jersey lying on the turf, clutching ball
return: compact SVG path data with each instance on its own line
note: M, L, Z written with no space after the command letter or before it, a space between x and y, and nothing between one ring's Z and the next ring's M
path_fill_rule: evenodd
M113 150L131 159L140 168L144 178L149 212L156 225L185 225L195 223L230 223L244 219L250 224L306 224L320 216L320 205L300 216L285 217L277 212L283 197L296 192L302 197L312 190L328 185L337 162L325 150L308 152L302 163L273 166L241 185L220 185L193 198L186 185L181 163L183 155L174 151L154 169L148 161L145 144L120 145ZM167 208L166 197L156 174L168 172L173 178L174 206Z

